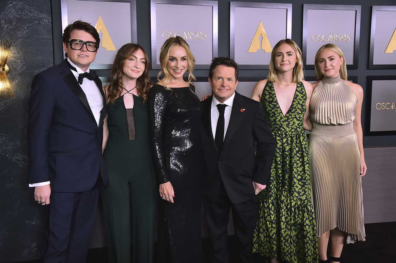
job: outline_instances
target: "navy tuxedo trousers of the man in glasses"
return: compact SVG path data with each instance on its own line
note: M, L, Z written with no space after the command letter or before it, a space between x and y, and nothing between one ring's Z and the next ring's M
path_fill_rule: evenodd
M85 263L95 221L99 184L84 192L51 192L43 263Z

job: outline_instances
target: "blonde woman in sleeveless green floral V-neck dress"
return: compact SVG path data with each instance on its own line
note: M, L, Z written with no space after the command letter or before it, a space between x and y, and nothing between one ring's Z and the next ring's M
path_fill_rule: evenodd
M312 85L303 80L301 50L291 39L271 54L268 79L259 81L252 98L263 104L276 140L267 187L259 193L259 219L253 252L271 263L318 262L311 198L306 125Z

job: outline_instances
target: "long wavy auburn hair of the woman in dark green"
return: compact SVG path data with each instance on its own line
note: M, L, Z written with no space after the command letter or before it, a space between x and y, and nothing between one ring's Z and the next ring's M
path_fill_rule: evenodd
M143 51L143 54L145 54L146 64L142 76L136 80L136 89L139 96L143 98L143 101L147 100L148 90L153 84L153 82L150 81L148 77L150 61L148 60L146 51L143 49L143 47L138 44L128 43L123 45L118 50L114 59L113 68L111 69L110 75L110 84L109 87L107 87L107 102L114 103L114 100L121 96L122 90L124 88L122 87L122 76L124 74L122 69L124 68L125 61L139 49Z

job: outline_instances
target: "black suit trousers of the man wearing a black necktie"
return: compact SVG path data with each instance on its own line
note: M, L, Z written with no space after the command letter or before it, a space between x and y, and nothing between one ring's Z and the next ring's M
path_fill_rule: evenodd
M223 182L220 185L219 197L217 199L204 198L205 216L208 223L209 240L211 242L211 262L229 262L227 225L231 209L235 235L238 240L238 262L251 263L253 261L252 238L258 218L257 196L253 195L251 199L245 202L232 204Z

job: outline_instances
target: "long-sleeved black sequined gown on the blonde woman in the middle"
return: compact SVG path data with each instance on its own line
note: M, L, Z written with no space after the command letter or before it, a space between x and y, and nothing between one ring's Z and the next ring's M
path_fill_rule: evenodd
M171 182L175 191L173 204L159 201L161 262L201 262L202 104L191 90L193 86L168 90L156 84L149 93L150 136L158 183Z

